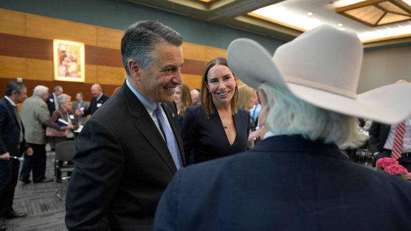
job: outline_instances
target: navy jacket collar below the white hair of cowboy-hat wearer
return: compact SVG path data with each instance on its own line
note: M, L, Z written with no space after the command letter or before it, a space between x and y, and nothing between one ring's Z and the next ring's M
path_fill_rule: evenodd
M335 144L325 144L323 141L311 141L301 135L273 136L259 142L252 151L263 152L299 152L315 154L337 159L348 159L341 153Z

